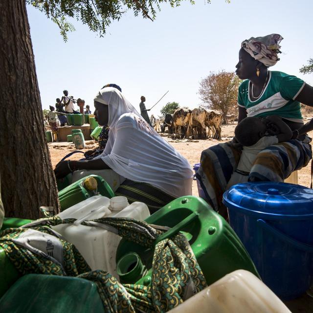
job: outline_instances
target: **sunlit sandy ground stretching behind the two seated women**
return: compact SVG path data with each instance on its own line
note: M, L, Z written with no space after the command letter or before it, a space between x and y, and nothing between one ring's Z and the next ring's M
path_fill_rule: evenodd
M216 139L206 139L206 140L172 140L171 138L164 137L169 143L181 153L181 155L185 156L189 163L193 166L195 163L200 162L200 156L202 150L211 147L215 144L220 142L226 142L230 140L234 135L234 129L236 127L236 123L223 125L222 126L222 140ZM309 133L310 137L313 137L313 131ZM83 149L82 151L87 151L97 147L97 142L90 140L86 142L87 149ZM55 142L55 143L48 143L52 166L53 168L55 165L68 153L75 150L74 144L67 143L67 142ZM70 157L72 160L77 160L82 158L82 154L75 154ZM311 184L311 162L309 165L300 171L298 171L298 183L299 185L303 185L306 187L310 187ZM197 183L196 181L193 182L192 188L193 195L198 195Z

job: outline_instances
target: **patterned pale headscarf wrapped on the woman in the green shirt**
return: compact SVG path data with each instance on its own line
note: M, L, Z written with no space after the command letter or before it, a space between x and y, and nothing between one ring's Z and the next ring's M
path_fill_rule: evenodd
M279 50L279 43L283 37L279 34L271 34L264 37L251 37L241 43L241 47L248 52L251 57L263 63L266 67L271 67L279 61L277 53Z

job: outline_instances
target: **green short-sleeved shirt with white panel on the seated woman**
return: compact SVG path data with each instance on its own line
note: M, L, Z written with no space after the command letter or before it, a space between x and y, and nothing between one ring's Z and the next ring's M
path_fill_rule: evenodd
M287 120L302 123L299 101L295 101L305 82L296 76L279 71L269 71L268 83L261 96L251 101L250 81L239 86L238 106L245 108L247 116L279 115Z

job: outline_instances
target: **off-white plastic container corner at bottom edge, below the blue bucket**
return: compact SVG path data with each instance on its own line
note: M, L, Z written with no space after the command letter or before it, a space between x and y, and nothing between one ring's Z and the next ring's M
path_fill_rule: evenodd
M195 294L169 313L291 313L252 273L239 269Z

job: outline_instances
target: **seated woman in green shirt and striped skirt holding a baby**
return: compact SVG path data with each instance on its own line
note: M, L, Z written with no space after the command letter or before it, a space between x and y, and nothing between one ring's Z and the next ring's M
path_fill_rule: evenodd
M312 149L306 135L299 135L303 126L300 102L313 106L313 87L303 80L268 67L279 61L283 38L278 34L251 37L241 44L236 74L245 79L238 91L238 123L247 116L278 115L293 131L288 142L262 150L250 170L248 181L284 181L293 171L306 166ZM201 181L208 202L227 216L222 203L223 193L241 157L242 147L235 139L202 151L197 178Z

